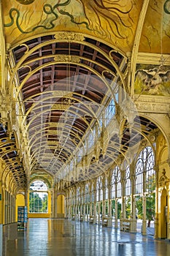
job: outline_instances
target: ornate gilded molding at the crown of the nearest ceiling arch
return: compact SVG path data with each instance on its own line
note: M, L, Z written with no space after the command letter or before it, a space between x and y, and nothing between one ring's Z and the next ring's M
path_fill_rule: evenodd
M58 39L58 40L63 40L63 39L66 39L68 40L68 42L72 42L72 41L84 41L85 40L85 37L82 35L82 34L77 34L77 33L74 33L74 32L57 32L55 34L55 39Z

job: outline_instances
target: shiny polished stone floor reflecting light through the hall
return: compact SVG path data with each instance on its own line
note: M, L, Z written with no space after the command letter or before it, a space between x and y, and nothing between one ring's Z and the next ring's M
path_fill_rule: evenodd
M170 241L65 219L29 219L7 256L169 256Z

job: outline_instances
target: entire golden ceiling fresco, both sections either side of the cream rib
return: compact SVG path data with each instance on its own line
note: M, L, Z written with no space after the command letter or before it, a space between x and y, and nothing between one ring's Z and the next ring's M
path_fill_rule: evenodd
M5 35L12 45L34 34L81 30L127 52L134 44L143 1L9 0L2 4ZM150 0L140 51L169 50L169 15L169 0Z

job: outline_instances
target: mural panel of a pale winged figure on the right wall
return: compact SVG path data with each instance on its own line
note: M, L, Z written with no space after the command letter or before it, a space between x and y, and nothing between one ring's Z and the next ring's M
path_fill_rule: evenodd
M169 96L170 67L137 65L134 93Z

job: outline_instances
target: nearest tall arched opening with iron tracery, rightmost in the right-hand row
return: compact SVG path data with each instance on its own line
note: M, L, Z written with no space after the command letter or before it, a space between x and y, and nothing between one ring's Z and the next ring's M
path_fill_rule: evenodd
M155 158L150 146L144 148L136 162L136 219L137 229L147 233L154 228L155 217ZM152 230L152 234L154 230Z

